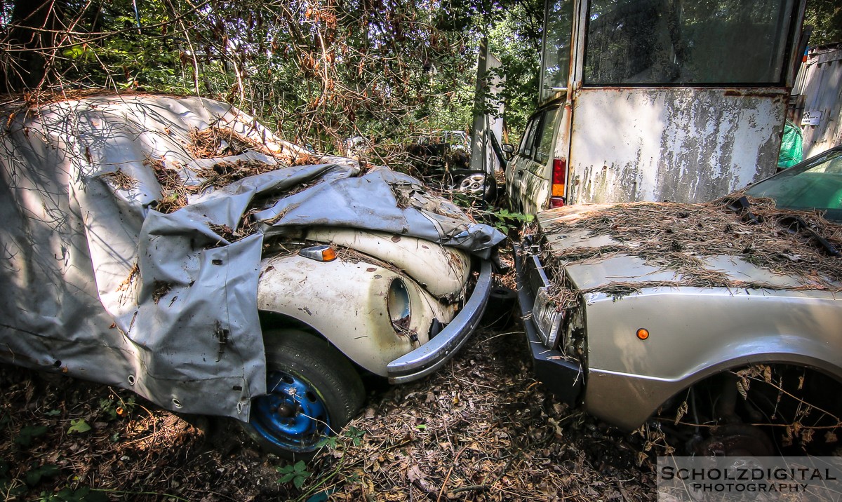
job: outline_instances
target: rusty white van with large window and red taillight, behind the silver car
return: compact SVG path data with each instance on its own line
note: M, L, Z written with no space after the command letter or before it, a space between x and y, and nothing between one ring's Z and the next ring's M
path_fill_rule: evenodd
M775 172L804 3L550 0L514 209L704 202Z

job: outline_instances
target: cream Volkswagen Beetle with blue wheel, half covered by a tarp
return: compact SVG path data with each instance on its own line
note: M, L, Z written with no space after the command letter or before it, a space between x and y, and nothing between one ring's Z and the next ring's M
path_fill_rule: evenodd
M385 167L314 156L226 103L10 105L0 359L227 415L307 457L471 335L504 238Z

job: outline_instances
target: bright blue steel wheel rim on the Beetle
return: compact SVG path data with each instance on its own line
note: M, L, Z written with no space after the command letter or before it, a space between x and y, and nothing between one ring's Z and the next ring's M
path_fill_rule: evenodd
M269 372L269 394L254 399L250 423L260 436L290 452L312 452L330 433L324 399L306 379L284 371Z

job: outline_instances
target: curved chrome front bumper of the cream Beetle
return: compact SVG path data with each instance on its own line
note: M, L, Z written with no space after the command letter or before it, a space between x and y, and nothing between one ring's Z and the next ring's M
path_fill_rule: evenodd
M450 324L432 340L386 366L389 383L407 383L433 373L456 354L477 328L491 294L491 262L483 261L471 298Z

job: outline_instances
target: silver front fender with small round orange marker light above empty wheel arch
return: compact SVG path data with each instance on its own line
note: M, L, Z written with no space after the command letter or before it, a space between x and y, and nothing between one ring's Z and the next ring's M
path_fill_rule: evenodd
M838 301L817 291L653 288L622 299L594 293L585 409L633 430L690 385L757 363L813 367L842 382ZM637 338L638 328L649 331L646 340Z

